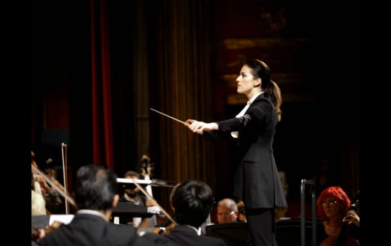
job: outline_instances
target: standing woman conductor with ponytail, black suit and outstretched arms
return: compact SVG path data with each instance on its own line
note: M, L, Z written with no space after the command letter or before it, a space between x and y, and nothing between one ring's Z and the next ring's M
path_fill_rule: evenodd
M237 92L248 98L236 118L213 123L188 119L185 125L207 139L237 137L241 162L233 194L244 201L253 245L276 245L274 207L287 207L272 148L281 93L269 67L256 59L242 66L236 82Z

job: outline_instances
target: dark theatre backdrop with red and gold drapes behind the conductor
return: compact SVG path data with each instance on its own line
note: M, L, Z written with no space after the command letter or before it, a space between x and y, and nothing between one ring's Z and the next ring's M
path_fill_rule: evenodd
M62 182L61 143L71 178L102 163L119 177L208 183L231 196L235 142L206 142L180 123L234 117L243 61L258 58L280 86L282 120L274 153L285 171L288 215L300 213L300 182L330 164L330 185L360 189L360 41L355 1L31 2L31 149L52 158ZM171 189L154 188L168 206Z

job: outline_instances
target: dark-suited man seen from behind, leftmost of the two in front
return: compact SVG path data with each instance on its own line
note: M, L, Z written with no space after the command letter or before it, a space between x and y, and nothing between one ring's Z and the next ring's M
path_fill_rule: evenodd
M72 222L62 225L38 240L39 245L154 245L140 237L136 228L109 223L117 205L117 175L103 166L90 164L77 171L76 203ZM165 244L160 240L159 244Z

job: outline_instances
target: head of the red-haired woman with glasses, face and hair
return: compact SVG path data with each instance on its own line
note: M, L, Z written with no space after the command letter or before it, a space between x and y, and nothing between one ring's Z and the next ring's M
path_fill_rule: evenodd
M317 214L323 220L334 216L345 216L350 206L350 199L339 186L324 189L316 201Z

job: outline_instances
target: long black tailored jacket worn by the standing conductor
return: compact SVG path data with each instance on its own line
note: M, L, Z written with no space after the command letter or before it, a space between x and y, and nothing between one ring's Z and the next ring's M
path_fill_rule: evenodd
M273 103L262 93L243 117L216 122L219 130L204 131L206 139L239 132L241 162L235 173L233 194L243 200L246 208L287 207L272 147L277 121Z

